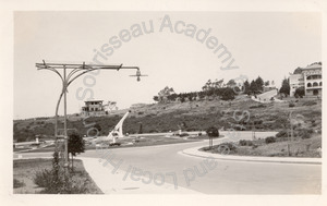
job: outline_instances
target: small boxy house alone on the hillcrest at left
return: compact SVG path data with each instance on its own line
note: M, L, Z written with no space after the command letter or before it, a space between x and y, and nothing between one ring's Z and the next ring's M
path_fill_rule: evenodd
M104 100L87 100L82 107L82 117L100 117L106 116Z

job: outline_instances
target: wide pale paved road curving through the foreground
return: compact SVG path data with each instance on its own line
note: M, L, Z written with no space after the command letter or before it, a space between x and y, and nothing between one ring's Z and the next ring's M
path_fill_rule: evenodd
M129 173L131 168L137 168L145 174L145 182L155 184L156 178L157 184L165 181L175 185L177 193L185 187L205 194L320 194L320 165L208 160L180 153L201 145L206 146L208 142L111 149L114 156L111 156L113 163L107 165L108 172L118 168L120 161L119 170ZM104 162L106 157L100 152L105 150L87 150L81 157L102 158ZM47 155L50 154L24 154L23 157ZM209 167L208 162L216 167ZM131 173L128 178L132 178Z

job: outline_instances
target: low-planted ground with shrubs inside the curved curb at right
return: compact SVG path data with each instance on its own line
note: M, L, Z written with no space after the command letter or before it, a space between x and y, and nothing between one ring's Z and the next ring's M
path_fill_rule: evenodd
M264 140L241 140L237 143L221 143L213 147L204 147L201 150L237 156L262 156L262 157L322 157L322 134L310 131L299 132L299 136L284 135L281 131L276 136Z

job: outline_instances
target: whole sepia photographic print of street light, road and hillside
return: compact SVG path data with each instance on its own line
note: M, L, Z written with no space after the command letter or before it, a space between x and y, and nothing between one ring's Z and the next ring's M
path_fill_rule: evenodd
M323 204L323 10L98 9L11 11L5 195Z

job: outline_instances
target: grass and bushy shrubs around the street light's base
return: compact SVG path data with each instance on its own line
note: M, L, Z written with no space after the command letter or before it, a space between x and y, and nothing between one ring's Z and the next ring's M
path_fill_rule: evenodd
M53 169L52 159L14 160L13 179L14 194L102 194L81 160L68 175Z

